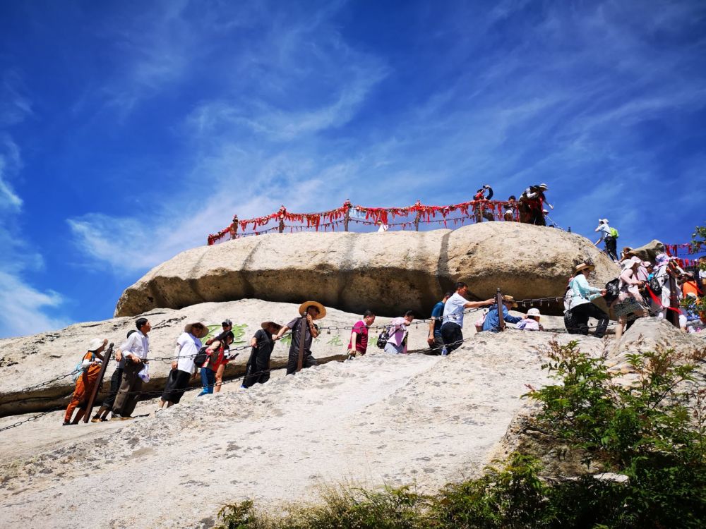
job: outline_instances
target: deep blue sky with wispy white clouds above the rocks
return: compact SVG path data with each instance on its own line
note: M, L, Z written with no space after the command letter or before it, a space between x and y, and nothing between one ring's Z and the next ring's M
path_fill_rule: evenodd
M0 336L112 316L232 215L549 184L623 245L706 220L702 1L0 3Z

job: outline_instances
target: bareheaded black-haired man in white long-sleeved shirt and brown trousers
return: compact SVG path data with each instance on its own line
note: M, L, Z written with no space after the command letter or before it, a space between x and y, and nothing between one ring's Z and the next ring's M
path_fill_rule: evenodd
M120 346L125 358L125 367L111 420L131 419L142 389L142 379L138 373L145 367L145 363L147 363L145 360L150 353L150 340L147 334L152 330L152 325L147 318L138 318L135 326L138 332L131 334Z

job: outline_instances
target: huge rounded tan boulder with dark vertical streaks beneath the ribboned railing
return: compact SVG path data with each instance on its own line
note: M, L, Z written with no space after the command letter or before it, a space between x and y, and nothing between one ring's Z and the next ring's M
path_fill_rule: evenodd
M115 315L242 298L426 315L455 281L465 281L477 299L498 287L516 299L563 296L572 267L584 260L596 265L597 285L618 275L586 238L513 222L453 231L270 233L177 255L127 288ZM562 310L554 303L544 312Z

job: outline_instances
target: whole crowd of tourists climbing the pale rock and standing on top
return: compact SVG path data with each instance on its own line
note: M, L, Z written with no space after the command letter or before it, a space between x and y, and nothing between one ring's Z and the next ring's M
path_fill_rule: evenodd
M485 190L490 190L489 186L481 188L479 193ZM523 195L529 197L529 200L538 200L539 207L542 207L544 190L544 184L532 186ZM492 190L490 193L492 196ZM516 207L522 215L522 200ZM514 214L514 211L511 212L511 216ZM609 312L614 312L615 335L618 339L635 320L647 316L669 319L678 324L684 332L702 329L706 323L706 313L698 308L701 306L698 303L706 291L706 257L699 260L698 274L685 271L678 265L676 257L670 257L666 253L658 254L654 261L647 261L641 260L631 248L623 248L618 257L615 243L618 233L610 228L608 220L600 219L596 231L601 232L601 239L596 244L604 241L606 253L621 265L621 272L608 284L596 286L592 284L592 272L595 267L591 262L582 262L574 267L572 276L568 278L564 296L563 320L567 332L589 334L590 330L594 329L594 336L602 338L609 325ZM510 314L510 310L517 308L513 296L502 296L498 305L496 298L471 301L467 299L468 295L467 284L458 282L453 291L445 293L434 305L429 318L429 349L426 353L448 355L461 346L465 341L462 333L463 320L469 309L482 311L481 316L474 321L477 332L496 332L500 329L501 322L512 324L514 327L511 328L522 331L544 330L540 322L542 315L537 308L530 308L527 314L522 316ZM604 299L604 305L609 312L593 303L599 297ZM248 389L254 384L264 384L268 381L270 355L275 343L287 332L291 337L287 375L292 375L301 368L318 365L311 353L311 345L320 333L315 322L325 315L326 309L321 303L307 301L299 307L299 317L294 317L285 325L271 321L263 322L261 329L251 337L251 353L241 388ZM378 348L389 354L407 353L409 326L415 317L412 310L407 310L400 317L393 318L378 336ZM589 326L590 318L596 320L596 324ZM369 330L375 319L375 313L366 310L361 320L352 326L347 348L348 358L366 354ZM109 413L112 414L112 420L131 418L143 384L149 381L148 334L152 327L144 317L138 318L135 323L136 329L128 332L125 341L116 348L117 367L110 379L107 396L92 417L92 422L107 420ZM184 332L177 336L172 357L174 361L162 391L160 409L179 403L191 381L199 375L202 389L198 396L220 391L225 368L237 356L236 352L231 351L234 341L232 327L232 322L225 320L222 322L221 332L205 340L209 329L203 322L186 324ZM76 389L66 408L64 425L77 424L84 417L88 397L93 393L100 377L107 343L107 339L92 339L88 344L88 351L76 366ZM78 412L74 416L77 408Z

